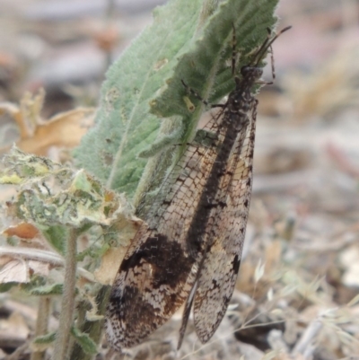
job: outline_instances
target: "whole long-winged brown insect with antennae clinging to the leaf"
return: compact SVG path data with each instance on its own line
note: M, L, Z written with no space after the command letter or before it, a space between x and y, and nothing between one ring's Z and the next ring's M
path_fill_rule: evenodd
M127 250L106 315L112 347L136 346L183 303L178 348L192 307L202 343L221 323L240 268L250 208L258 105L251 90L257 83L266 84L260 80L259 63L288 29L268 35L250 64L241 67L240 76L235 75L233 31L235 89L225 103L212 105L221 110L204 129L209 145L188 145Z

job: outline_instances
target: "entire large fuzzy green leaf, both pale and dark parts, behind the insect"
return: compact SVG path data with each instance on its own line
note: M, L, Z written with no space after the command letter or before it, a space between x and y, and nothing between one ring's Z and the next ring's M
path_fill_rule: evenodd
M212 103L231 92L233 25L239 68L276 23L277 1L227 0L216 6L172 0L157 8L153 25L109 68L96 126L74 152L77 164L138 206L142 193L157 188L183 154L204 110L200 101L188 100L181 80ZM163 151L172 144L180 146ZM138 155L154 154L144 171L146 161Z

